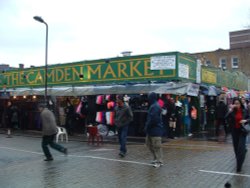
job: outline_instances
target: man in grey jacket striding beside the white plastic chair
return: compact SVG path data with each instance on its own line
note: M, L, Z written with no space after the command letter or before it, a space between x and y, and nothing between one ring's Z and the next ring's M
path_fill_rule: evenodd
M53 157L49 151L48 145L53 149L68 154L67 148L54 142L57 133L56 118L47 107L46 104L39 104L38 109L41 112L40 117L42 121L42 149L45 155L44 161L53 161Z

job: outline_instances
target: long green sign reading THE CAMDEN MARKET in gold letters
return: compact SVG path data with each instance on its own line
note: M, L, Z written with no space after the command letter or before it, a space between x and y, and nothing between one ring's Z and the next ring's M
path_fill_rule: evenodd
M195 61L178 52L144 56L120 57L95 61L48 66L48 86L113 84L178 79L178 62L190 66L188 77L195 80ZM6 88L42 87L44 67L20 69L3 73L1 84Z

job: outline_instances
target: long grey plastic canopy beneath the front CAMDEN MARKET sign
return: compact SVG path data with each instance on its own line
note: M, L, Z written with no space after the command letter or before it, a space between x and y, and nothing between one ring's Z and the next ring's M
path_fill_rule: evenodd
M10 96L44 95L44 88L17 88L7 89ZM125 84L125 85L104 85L104 86L81 86L81 87L50 87L50 96L82 96L99 94L138 94L155 92L158 94L176 94L198 96L199 85L192 83L148 83L148 84Z

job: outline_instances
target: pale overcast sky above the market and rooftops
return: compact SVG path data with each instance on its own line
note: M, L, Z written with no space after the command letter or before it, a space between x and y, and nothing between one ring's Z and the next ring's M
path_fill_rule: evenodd
M0 0L0 64L48 64L229 48L250 25L249 0Z

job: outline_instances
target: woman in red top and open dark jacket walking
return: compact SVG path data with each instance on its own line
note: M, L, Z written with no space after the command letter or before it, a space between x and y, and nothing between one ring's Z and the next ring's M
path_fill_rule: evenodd
M234 153L237 163L237 172L241 172L242 164L246 156L246 136L247 133L242 131L244 123L249 122L247 109L244 108L241 100L235 98L230 106L226 119L231 128Z

